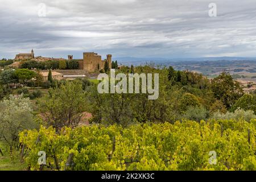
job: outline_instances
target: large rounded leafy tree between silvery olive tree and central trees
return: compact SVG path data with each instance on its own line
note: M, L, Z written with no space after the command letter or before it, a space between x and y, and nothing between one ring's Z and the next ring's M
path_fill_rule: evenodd
M64 126L75 128L79 125L85 111L85 93L80 82L66 82L49 92L40 102L40 112L44 121L56 128Z

